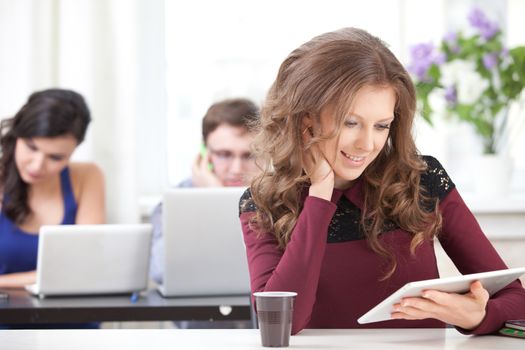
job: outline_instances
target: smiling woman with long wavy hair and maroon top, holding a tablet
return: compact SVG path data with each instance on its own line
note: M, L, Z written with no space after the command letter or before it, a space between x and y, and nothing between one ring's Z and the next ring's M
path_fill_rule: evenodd
M439 277L439 239L461 273L505 269L439 161L419 154L413 83L377 37L343 28L293 50L261 109L261 174L240 201L251 288L296 292L303 328L434 328L487 334L525 317L514 281L489 298L429 290L359 316L410 281Z

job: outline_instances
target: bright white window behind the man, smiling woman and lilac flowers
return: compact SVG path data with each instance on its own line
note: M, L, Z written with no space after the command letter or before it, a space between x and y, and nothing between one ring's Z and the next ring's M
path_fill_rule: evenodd
M507 14L512 17L511 7L523 7L517 0L497 4L489 0L166 1L170 185L191 174L201 142L201 120L208 106L229 97L248 97L261 103L279 64L313 36L341 27L360 27L383 39L407 64L411 45L438 42L448 30L465 26L466 14L474 6L496 14L502 21ZM513 38L521 37L516 29L510 32ZM519 124L521 131L516 132L523 135L524 123ZM421 152L437 156L447 169L451 168L456 183L463 181L458 178L460 171L455 176L456 164L447 161L450 152L445 135L419 118L415 132ZM524 162L525 157L521 157L517 165L525 168ZM468 185L468 179L465 183Z

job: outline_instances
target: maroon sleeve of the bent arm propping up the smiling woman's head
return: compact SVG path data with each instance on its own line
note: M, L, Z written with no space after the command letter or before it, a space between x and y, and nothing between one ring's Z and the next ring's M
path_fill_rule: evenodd
M284 252L273 234L251 229L249 222L254 212L241 213L252 292L297 292L292 334L305 328L310 320L327 244L326 232L336 208L332 202L307 197Z

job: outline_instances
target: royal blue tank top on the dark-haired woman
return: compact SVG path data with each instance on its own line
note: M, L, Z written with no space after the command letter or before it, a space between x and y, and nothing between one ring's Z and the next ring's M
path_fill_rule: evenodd
M60 187L64 200L64 218L61 225L74 224L77 203L67 167L60 173ZM37 252L38 234L21 230L2 210L0 212L0 275L35 270Z

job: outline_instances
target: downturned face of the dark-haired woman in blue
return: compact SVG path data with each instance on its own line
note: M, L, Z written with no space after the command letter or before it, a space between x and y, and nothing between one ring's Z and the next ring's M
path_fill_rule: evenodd
M15 162L20 177L29 185L45 182L59 174L77 147L72 135L18 138Z

